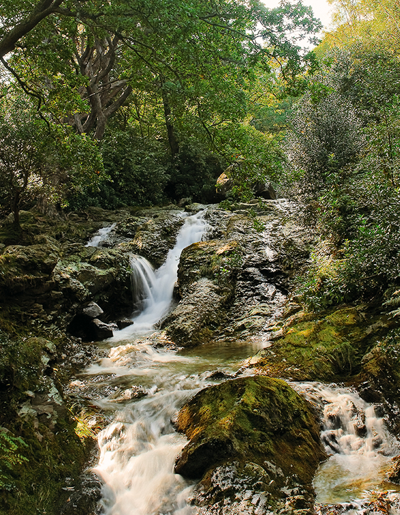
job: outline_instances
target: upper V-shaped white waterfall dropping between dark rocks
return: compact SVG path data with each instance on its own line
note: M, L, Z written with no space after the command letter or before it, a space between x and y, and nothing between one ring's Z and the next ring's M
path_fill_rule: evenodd
M176 238L165 262L156 272L144 257L133 256L133 288L135 303L142 311L133 315L133 325L116 332L113 341L120 341L134 333L146 332L153 328L168 313L174 293L174 284L178 275L179 258L183 249L191 243L200 241L209 224L204 220L204 211L188 216Z

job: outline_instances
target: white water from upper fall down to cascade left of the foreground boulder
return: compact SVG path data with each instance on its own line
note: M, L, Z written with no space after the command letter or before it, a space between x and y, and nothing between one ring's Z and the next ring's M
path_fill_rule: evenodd
M101 455L94 468L104 481L101 504L105 515L196 512L187 505L191 484L174 474L176 455L186 440L174 432L171 419L191 395L206 386L206 380L198 375L202 365L197 356L154 349L152 341L143 336L141 339L140 334L148 332L167 313L179 256L183 248L200 241L206 227L203 213L187 217L176 246L155 273L144 258L133 256L133 281L141 285L137 300L142 312L133 317L133 326L110 341L114 345L124 340L124 345L112 347L108 358L87 371L97 384L98 378L109 374L116 391L97 401L105 412L114 412L114 422L98 436ZM132 399L138 386L144 397Z

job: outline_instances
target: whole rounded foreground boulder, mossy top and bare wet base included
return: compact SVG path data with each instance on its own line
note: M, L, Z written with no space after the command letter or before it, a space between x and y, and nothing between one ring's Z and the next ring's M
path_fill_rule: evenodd
M317 416L284 381L259 375L206 388L178 412L176 427L189 443L175 472L201 479L200 514L312 506L312 478L326 455Z

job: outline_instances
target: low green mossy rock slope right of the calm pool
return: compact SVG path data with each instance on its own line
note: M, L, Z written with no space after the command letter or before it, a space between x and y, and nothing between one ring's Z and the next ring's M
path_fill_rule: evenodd
M250 360L250 366L300 381L349 380L360 372L362 357L388 326L384 315L361 313L352 306L317 315L296 313L273 345Z

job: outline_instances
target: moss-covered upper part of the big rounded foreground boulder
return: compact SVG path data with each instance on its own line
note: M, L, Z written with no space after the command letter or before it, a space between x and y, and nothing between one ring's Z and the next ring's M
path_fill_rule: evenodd
M236 460L266 470L276 480L310 484L325 458L319 425L308 403L286 382L266 376L228 380L200 391L178 413L176 427L190 439L175 471L202 477ZM272 464L272 465L271 465Z

